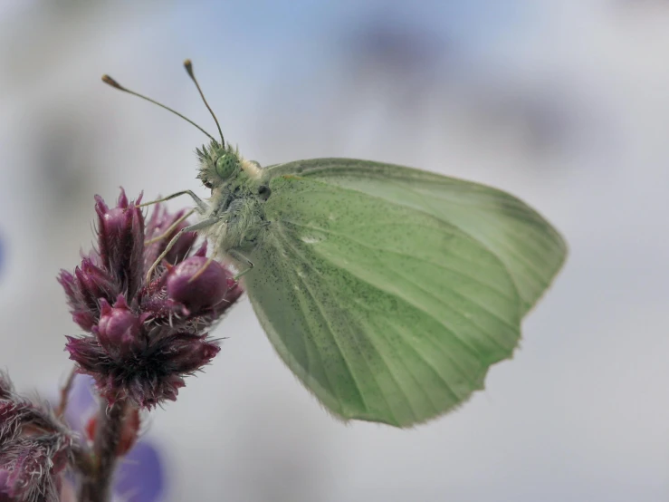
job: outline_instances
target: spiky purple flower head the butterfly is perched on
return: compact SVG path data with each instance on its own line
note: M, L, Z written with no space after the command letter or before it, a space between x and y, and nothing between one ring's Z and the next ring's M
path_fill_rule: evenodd
M66 350L109 404L128 400L150 409L174 401L184 377L219 352L206 330L242 290L229 270L205 258L206 243L191 254L196 235L188 232L146 282L151 265L186 227L185 211L173 215L157 205L147 220L123 190L115 208L97 197L95 209L97 251L73 274L59 275L72 319L87 332L67 337Z

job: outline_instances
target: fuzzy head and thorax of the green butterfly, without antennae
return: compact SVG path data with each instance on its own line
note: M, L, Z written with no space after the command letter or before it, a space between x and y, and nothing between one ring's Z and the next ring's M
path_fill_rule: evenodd
M211 188L209 209L204 219L215 223L205 229L217 255L248 253L258 246L269 222L264 203L270 189L263 184L263 169L257 162L244 159L229 144L212 141L197 150L200 159L198 178Z

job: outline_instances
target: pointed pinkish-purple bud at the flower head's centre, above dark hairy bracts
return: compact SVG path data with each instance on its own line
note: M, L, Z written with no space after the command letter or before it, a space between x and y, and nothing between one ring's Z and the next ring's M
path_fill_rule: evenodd
M98 340L110 355L127 356L133 349L139 348L141 324L139 316L130 311L123 295L119 294L113 307L104 299L100 300Z

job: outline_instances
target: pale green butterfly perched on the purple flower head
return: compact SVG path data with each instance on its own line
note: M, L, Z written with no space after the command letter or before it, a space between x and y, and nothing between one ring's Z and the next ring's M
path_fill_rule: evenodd
M343 420L407 427L483 389L567 255L496 188L356 159L261 168L209 137L198 156L211 198L168 197L196 201L201 219L182 232L234 261L276 352Z

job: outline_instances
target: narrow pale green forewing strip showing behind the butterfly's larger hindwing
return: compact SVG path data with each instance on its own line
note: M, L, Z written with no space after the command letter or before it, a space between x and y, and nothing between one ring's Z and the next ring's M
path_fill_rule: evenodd
M497 188L356 159L299 160L267 170L272 177L294 174L383 198L460 228L502 260L518 287L523 313L540 299L567 256L550 223Z

